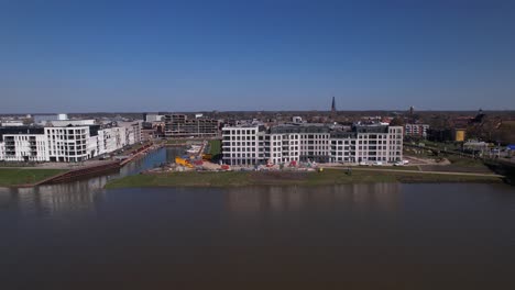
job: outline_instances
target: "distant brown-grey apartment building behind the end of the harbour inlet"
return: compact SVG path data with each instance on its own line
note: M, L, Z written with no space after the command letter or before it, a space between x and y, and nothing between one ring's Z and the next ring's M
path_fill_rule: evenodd
M219 134L218 120L188 119L185 114L166 114L164 120L166 137L215 137Z

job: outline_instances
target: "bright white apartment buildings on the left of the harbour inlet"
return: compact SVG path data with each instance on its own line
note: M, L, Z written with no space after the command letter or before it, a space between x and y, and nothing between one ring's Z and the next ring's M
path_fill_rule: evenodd
M83 161L140 142L135 125L0 129L0 160Z

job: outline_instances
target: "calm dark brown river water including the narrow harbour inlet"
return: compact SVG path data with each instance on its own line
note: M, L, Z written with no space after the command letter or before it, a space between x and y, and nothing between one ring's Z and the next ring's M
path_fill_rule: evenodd
M509 186L106 180L0 189L0 289L515 289Z

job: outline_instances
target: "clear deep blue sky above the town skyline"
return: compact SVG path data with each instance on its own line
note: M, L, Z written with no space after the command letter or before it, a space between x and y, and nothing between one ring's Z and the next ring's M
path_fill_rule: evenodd
M515 109L515 1L0 0L0 112Z

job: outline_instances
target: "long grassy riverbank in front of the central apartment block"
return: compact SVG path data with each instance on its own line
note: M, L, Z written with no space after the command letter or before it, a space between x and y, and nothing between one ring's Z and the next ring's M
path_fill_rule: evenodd
M342 169L322 172L299 171L226 171L226 172L164 172L129 176L111 180L107 189L144 187L240 187L240 186L324 186L374 182L503 182L495 175L460 172L415 172L406 170L360 170L350 174Z

